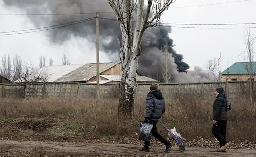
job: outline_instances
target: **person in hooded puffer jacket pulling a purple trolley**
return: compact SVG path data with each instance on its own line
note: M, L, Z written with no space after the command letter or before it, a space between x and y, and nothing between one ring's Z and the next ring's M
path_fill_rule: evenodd
M150 86L150 92L146 98L146 114L145 122L153 122L153 128L151 130L152 135L166 145L165 152L168 152L172 144L168 142L161 134L157 132L156 124L165 112L165 99L160 90L157 89L156 84ZM149 151L150 141L145 141L145 145L141 151Z

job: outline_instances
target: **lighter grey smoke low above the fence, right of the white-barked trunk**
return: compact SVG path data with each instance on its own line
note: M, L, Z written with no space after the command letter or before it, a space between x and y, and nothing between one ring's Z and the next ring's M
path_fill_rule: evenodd
M169 49L172 49L172 47L169 47ZM152 78L156 78L157 80L164 82L162 76L163 69L161 67L163 62L161 58L166 56L164 56L162 50L159 50L157 47L148 46L144 48L144 51L148 53L142 53L140 59L143 60L143 63L147 64L139 64L139 73L142 75L147 75ZM178 65L175 63L173 53L171 53L170 55L169 62L170 83L202 83L217 81L212 72L203 70L201 67L198 66L195 66L194 70L180 72Z

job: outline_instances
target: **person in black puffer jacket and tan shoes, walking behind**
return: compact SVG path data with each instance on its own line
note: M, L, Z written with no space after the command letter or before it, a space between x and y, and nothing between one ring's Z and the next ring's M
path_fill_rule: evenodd
M213 127L212 133L219 141L220 149L217 151L225 151L228 147L226 132L227 132L227 97L223 93L224 89L218 87L215 89L214 94L216 96L216 100L213 103Z

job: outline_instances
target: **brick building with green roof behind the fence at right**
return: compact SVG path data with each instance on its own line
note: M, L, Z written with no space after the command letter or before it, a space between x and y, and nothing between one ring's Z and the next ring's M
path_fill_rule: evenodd
M246 67L249 62L236 62L221 73L221 81L248 81L249 74ZM256 62L252 62L253 79L256 79Z

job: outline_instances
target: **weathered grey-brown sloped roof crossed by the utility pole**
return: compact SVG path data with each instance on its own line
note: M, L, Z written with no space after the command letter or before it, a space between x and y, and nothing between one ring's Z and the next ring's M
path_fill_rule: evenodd
M120 62L100 63L99 72L102 73ZM83 66L63 75L55 80L55 82L76 82L88 81L96 76L96 63L84 64Z

